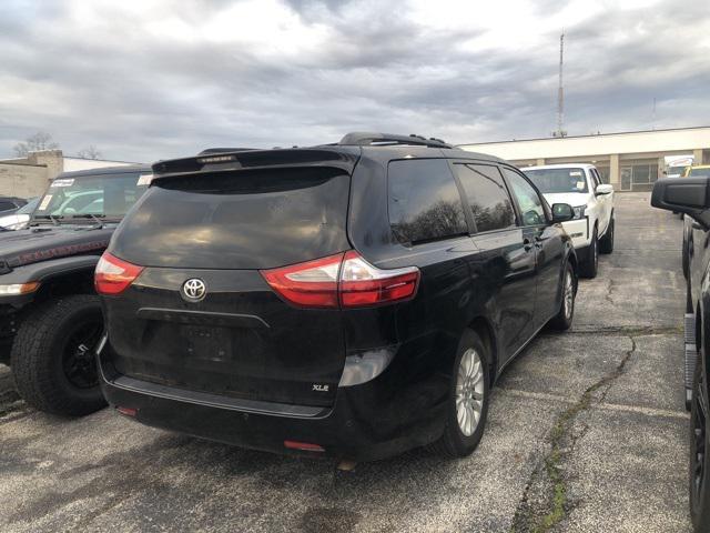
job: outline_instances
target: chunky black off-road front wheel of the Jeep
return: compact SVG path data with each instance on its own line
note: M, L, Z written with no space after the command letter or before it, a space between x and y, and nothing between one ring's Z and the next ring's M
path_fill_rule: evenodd
M14 383L24 401L64 415L103 408L94 356L102 331L101 304L94 295L38 305L20 325L11 353Z

